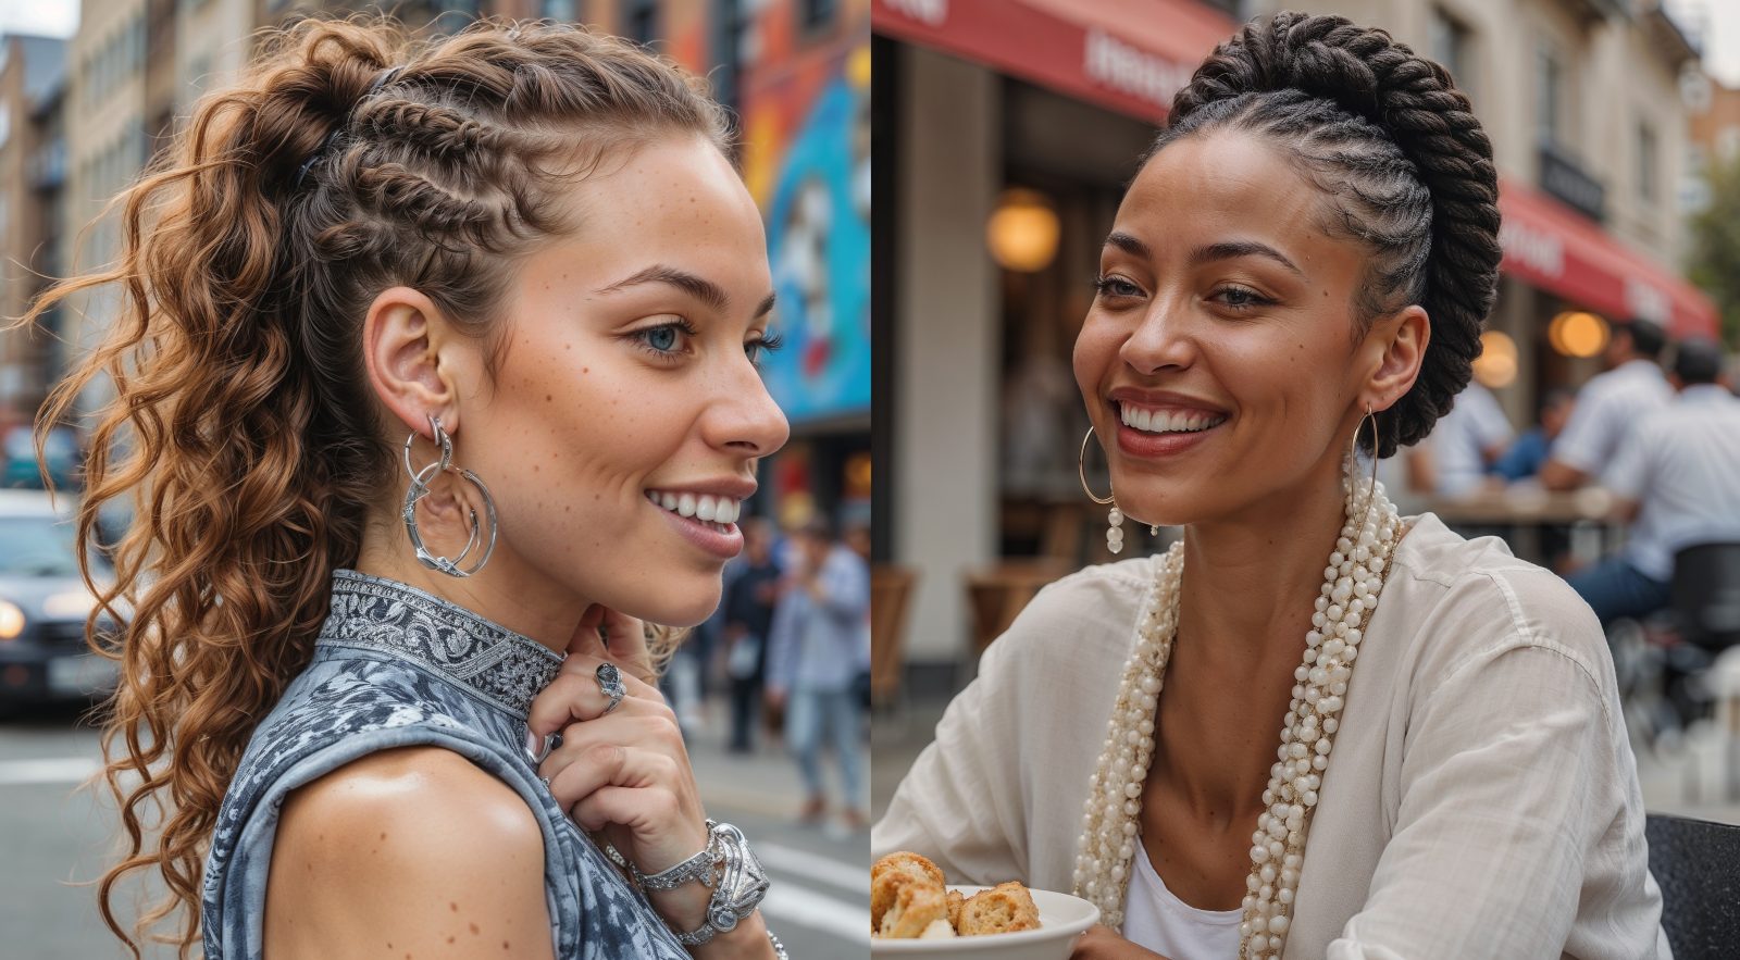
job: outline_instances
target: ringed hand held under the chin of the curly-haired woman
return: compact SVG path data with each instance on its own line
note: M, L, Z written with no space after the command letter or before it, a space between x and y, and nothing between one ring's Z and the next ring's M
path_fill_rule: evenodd
M618 666L628 689L609 713L597 678L604 663ZM701 852L708 835L677 715L649 680L640 621L593 607L574 631L562 671L532 701L527 725L538 737L562 734L562 746L538 772L574 823L602 831L642 873L659 873ZM712 894L684 883L651 896L672 927L691 930L701 925Z

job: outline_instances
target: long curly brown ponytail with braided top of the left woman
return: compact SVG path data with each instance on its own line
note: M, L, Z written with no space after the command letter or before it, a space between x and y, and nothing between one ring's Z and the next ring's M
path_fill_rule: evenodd
M301 21L270 33L117 198L118 261L35 304L26 320L120 290L106 339L42 423L111 384L78 536L132 497L113 583L85 574L103 610L129 610L103 777L130 845L99 901L134 957L134 937L177 911L167 939L181 957L198 943L230 779L311 656L332 569L355 563L371 504L393 489L362 367L369 303L411 285L494 355L515 257L572 226L557 191L663 136L726 150L724 111L625 42L546 23L412 40L390 21ZM158 871L167 897L129 932L111 904L136 870Z

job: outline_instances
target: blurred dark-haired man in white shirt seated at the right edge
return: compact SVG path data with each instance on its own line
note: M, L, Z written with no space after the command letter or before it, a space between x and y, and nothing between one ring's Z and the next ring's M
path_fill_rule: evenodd
M1740 541L1740 398L1721 384L1721 369L1716 344L1683 343L1677 400L1637 421L1606 473L1630 539L1622 555L1568 577L1603 626L1667 607L1679 550Z

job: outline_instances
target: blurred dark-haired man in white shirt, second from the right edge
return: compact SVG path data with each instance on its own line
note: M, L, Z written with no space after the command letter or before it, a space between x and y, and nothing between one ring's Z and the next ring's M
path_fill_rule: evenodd
M1540 468L1542 487L1575 490L1601 480L1630 424L1672 400L1674 390L1658 363L1665 346L1667 334L1648 320L1613 325L1603 355L1606 372L1576 393L1576 409Z

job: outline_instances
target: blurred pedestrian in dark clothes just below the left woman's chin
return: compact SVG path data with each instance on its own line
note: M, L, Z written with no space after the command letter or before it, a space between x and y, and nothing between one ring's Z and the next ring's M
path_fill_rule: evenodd
M759 704L767 683L767 637L780 600L773 562L773 523L755 517L743 527L743 567L726 583L726 675L731 677L731 753L755 750Z

